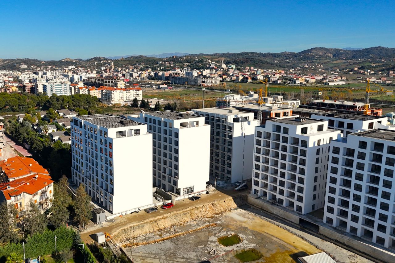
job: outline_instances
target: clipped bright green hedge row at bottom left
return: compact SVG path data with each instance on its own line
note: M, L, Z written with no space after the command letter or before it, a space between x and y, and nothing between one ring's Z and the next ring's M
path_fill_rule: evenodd
M59 227L55 231L46 230L42 234L35 234L24 245L26 257L36 258L39 255L50 255L55 252L55 236L56 250L59 252L65 248L72 248L77 233L73 229ZM4 261L12 252L23 254L23 244L8 243L0 246L0 262Z

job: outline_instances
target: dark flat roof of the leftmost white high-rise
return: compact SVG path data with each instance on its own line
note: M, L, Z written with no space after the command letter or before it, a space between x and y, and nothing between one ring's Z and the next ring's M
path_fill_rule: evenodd
M78 118L105 128L120 128L143 125L142 123L114 116L111 114L84 115L78 116Z

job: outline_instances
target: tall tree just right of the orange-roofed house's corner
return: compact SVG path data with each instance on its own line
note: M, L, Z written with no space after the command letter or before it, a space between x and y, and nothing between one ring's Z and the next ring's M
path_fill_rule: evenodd
M51 217L50 222L55 226L55 228L60 227L61 225L66 225L70 216L69 210L67 209L71 203L71 196L67 192L68 185L67 177L64 175L60 178L58 183L54 184L51 207L53 216Z

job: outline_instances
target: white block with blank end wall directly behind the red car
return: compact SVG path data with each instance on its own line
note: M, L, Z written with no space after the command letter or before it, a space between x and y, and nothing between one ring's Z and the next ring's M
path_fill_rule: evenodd
M206 189L209 181L210 126L205 117L176 111L129 115L152 133L154 185L178 195ZM148 146L145 146L148 147Z

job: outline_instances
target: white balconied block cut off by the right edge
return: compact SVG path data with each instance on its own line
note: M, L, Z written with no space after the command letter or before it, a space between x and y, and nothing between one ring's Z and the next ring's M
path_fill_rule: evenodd
M331 143L324 223L395 248L395 131L351 133Z

